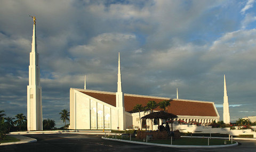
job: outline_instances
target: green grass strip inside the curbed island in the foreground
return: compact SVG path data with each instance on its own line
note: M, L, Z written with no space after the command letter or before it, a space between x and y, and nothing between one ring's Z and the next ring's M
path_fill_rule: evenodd
M112 138L112 136L107 137L107 138ZM115 135L114 135L115 138ZM121 135L116 136L117 139L121 139ZM123 140L130 140L130 138L126 139L123 138ZM137 139L137 138L132 138L132 141L140 141L143 142L143 139ZM224 145L224 139L210 139L210 145ZM231 141L227 141L227 145L231 144ZM151 140L148 141L150 143L159 143L159 144L166 144L170 145L171 144L171 139L163 139L163 140ZM235 143L235 141L233 141ZM207 138L180 138L178 140L172 141L172 145L197 145L197 146L207 146L208 145L208 139Z

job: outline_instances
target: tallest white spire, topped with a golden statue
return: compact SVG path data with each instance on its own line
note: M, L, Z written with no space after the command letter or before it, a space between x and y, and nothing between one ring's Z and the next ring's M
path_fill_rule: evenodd
M34 19L33 38L29 61L29 82L27 86L27 129L43 130L42 87L40 85L39 54L36 43L36 18Z

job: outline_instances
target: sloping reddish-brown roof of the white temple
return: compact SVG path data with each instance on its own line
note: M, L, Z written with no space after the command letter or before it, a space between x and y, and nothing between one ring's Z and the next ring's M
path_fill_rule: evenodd
M116 93L115 92L103 92L103 91L92 91L92 90L78 90L84 94L87 94L95 99L108 103L111 106L116 107ZM124 107L125 111L134 113L133 107L137 104L141 104L145 107L148 101L153 100L159 103L163 100L171 100L170 106L168 107L168 113L174 115L183 116L213 116L217 117L217 111L215 111L213 102L206 101L195 101L185 99L171 99L164 97L152 97L146 95L134 95L124 94ZM154 110L162 110L159 107Z

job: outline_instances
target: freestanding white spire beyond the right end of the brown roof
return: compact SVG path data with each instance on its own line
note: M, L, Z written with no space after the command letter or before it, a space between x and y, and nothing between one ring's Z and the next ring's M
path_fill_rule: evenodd
M224 96L223 96L223 122L230 123L229 107L228 107L228 95L226 86L226 77L224 75Z

